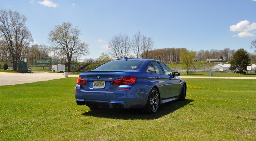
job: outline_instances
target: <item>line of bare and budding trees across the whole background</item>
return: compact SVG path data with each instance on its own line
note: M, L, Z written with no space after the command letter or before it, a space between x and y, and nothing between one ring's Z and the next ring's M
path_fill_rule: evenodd
M32 45L33 38L26 26L26 21L27 17L17 11L0 9L0 61L12 62L14 70L17 70L17 62L25 60L29 64L34 64L35 60L46 57L48 60L67 61L68 71L70 71L71 61L78 62L81 55L89 54L89 44L79 38L82 33L78 26L74 27L70 22L57 24L48 34L50 46ZM140 31L132 37L122 33L114 35L109 39L108 47L108 53L102 52L99 60L111 61L129 57L163 62L184 62L182 52L188 51L186 48L156 49L154 40ZM251 42L251 48L256 48L256 39ZM193 59L198 61L232 60L236 50L224 48L191 52L195 54ZM249 56L252 62L256 62L256 55L249 54Z

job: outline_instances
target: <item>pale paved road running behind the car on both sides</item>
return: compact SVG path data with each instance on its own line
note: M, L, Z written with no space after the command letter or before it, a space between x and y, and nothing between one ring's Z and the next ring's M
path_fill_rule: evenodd
M79 75L68 75L68 77L78 77ZM37 81L47 81L65 78L64 73L5 73L0 72L0 86L32 83ZM204 77L204 76L180 76L180 78L204 78L204 79L256 79L256 77Z

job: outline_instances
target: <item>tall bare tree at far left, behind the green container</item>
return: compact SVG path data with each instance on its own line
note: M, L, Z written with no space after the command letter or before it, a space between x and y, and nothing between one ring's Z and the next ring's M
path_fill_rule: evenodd
M25 26L26 21L27 17L17 11L0 10L0 48L6 50L5 55L12 61L13 70L17 70L17 62L23 59L33 41Z

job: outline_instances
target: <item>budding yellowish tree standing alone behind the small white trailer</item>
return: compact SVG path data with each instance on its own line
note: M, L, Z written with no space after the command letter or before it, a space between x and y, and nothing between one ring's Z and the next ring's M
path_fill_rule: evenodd
M75 53L88 55L88 44L79 39L81 31L78 26L73 27L70 22L63 22L61 25L54 26L54 29L48 34L49 42L57 52L64 52L68 60L68 72L72 55Z

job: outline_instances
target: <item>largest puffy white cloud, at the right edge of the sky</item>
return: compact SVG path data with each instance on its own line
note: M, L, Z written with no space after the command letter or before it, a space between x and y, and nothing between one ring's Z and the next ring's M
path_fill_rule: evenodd
M250 22L247 20L240 21L236 25L230 26L230 31L252 31L256 29L256 23L253 22L250 25Z

